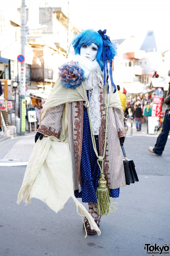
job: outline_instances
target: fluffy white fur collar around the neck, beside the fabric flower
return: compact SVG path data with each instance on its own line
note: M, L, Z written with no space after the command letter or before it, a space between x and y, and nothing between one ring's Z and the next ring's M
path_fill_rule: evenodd
M80 67L84 70L84 78L87 80L90 72L93 70L97 70L101 75L103 75L103 71L101 71L101 67L99 63L96 61L91 61L89 59L86 59L79 54L74 54L73 52L69 53L67 57L68 61L77 61L80 65Z

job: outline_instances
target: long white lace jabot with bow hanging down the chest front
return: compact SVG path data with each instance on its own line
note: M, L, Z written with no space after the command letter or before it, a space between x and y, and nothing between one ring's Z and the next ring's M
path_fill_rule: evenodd
M99 135L99 126L101 125L100 87L103 88L101 74L97 70L93 70L90 72L86 84L86 90L89 90L90 120L93 135Z

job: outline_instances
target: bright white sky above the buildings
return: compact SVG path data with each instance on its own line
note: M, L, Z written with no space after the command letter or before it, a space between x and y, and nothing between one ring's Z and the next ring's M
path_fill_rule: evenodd
M33 0L26 0L29 4ZM21 0L0 0L12 9L20 7ZM34 5L68 10L68 0L34 0ZM69 17L78 30L107 29L111 39L136 36L144 40L148 30L154 30L157 47L170 48L170 0L69 0Z

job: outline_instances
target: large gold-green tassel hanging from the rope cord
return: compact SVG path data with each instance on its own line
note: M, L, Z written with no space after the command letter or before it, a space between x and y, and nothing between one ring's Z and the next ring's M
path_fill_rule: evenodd
M97 214L108 215L116 209L114 204L111 202L109 189L107 187L107 181L105 174L101 173L98 181L98 187L96 191L97 196Z

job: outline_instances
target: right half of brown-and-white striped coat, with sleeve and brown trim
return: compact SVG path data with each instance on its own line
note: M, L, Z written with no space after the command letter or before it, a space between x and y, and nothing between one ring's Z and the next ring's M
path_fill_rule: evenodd
M103 155L105 140L105 110L103 89L100 89L101 127L99 128L99 151ZM126 186L122 151L119 137L126 136L122 112L119 108L108 108L107 143L104 158L104 173L109 189Z

